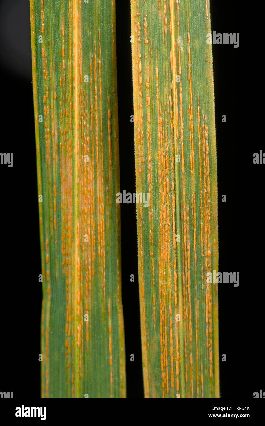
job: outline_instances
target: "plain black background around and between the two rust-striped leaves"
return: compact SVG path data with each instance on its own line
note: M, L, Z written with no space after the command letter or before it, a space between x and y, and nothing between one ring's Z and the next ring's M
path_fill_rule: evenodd
M155 0L154 0L155 1ZM219 286L222 398L253 399L264 380L265 165L260 66L241 1L210 1L212 32L240 33L240 47L213 45L217 130L219 271L240 272L240 285ZM121 191L135 192L130 2L116 0ZM253 33L254 34L254 33ZM256 37L256 38L255 38ZM251 43L254 43L251 47ZM255 60L257 63L255 63ZM0 1L0 391L40 397L39 330L42 300L37 169L31 77L29 0ZM260 80L261 79L261 80ZM227 122L222 123L222 115ZM226 194L226 203L221 196ZM121 204L122 301L127 398L143 398L135 206ZM135 282L130 282L130 274ZM135 362L130 363L130 354Z

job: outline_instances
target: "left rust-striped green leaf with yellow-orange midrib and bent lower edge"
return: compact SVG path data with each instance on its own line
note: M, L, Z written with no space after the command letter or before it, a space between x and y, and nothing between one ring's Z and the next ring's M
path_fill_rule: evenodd
M124 398L115 1L30 13L42 398Z

